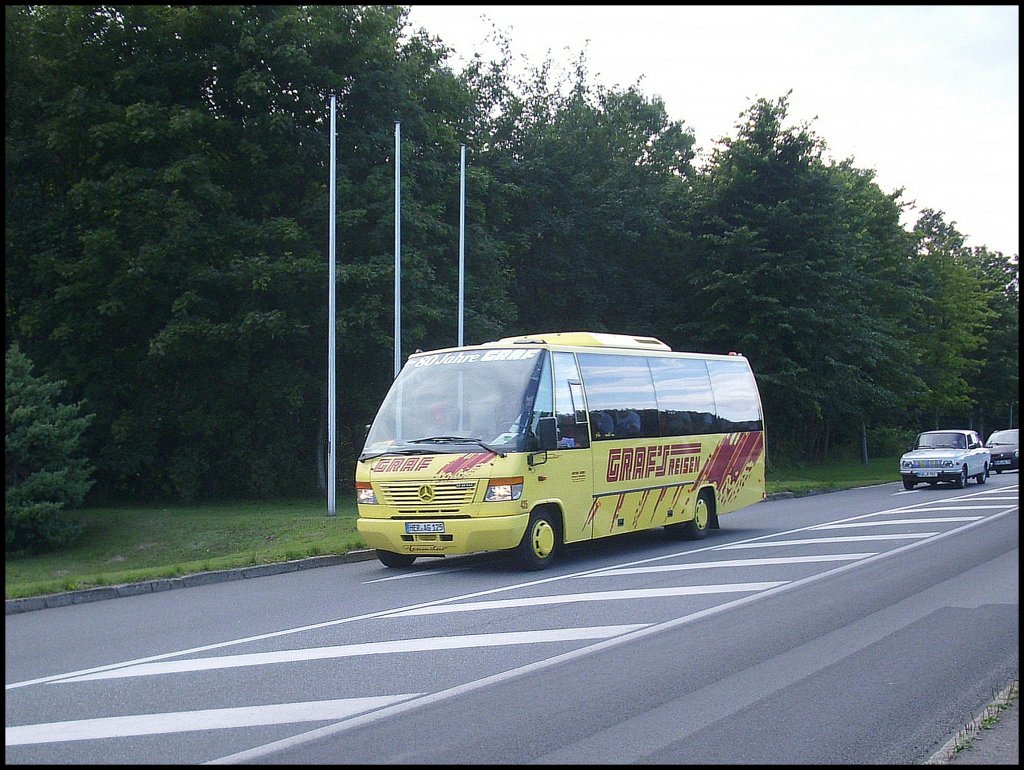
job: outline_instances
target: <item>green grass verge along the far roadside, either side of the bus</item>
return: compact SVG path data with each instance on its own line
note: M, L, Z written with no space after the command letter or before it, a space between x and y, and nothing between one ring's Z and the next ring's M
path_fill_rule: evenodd
M768 494L845 489L899 480L894 458L769 470ZM49 554L4 559L7 599L178 578L212 569L270 564L365 548L355 501L323 500L87 508L67 514L82 537Z

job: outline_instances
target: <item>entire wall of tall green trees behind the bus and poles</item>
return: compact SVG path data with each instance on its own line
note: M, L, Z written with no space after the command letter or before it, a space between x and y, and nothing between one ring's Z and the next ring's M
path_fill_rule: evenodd
M351 473L400 353L465 339L652 335L745 353L769 441L827 457L1019 412L1016 255L941 212L900 224L788 95L707 164L639 85L551 60L461 73L389 5L5 8L5 341L95 414L93 497L323 491L329 95L337 121L338 461Z

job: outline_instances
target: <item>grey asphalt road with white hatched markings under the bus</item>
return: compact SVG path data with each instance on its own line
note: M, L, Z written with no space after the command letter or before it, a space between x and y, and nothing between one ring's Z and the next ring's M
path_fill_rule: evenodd
M915 764L1019 671L1016 473L707 540L376 561L6 616L7 764Z

